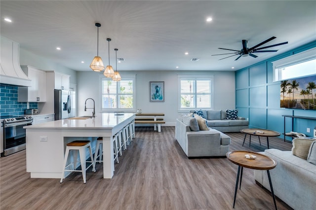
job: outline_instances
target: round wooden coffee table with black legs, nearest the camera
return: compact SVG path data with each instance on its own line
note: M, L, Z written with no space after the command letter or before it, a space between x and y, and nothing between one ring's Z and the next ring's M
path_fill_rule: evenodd
M255 155L255 159L247 159L245 155ZM239 189L241 187L241 179L242 179L242 170L243 167L249 168L249 169L256 169L256 170L266 170L268 173L270 188L271 188L271 194L273 197L273 201L275 203L276 207L276 198L272 187L271 177L269 170L274 169L276 167L276 162L271 159L270 157L256 153L256 152L250 152L250 151L231 151L227 152L226 157L228 160L230 160L232 163L235 163L238 165L238 172L237 172L237 179L236 179L236 186L235 186L235 196L234 196L234 205L233 208L235 208L235 201L236 201L236 195L237 195L237 188L238 188L238 181L239 181L239 175L240 175L240 185ZM241 173L240 173L241 171Z

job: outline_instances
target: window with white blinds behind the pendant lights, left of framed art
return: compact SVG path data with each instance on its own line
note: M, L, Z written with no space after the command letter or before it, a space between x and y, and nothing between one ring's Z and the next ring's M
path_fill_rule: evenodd
M123 76L122 76L123 77ZM101 79L102 111L135 110L135 77L124 77L120 81Z

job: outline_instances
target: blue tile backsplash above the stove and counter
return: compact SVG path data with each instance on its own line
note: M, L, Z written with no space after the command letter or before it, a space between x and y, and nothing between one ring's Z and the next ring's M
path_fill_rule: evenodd
M26 102L18 102L18 86L0 83L0 116L24 115ZM38 108L38 103L29 103L29 108Z

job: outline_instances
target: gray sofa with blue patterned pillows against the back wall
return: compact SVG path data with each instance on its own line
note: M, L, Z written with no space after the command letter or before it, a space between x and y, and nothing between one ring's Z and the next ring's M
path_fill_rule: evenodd
M194 110L190 110L191 113ZM207 120L210 128L223 133L237 133L242 129L249 128L249 121L244 117L238 117L237 120L226 119L226 110L203 110L203 118Z

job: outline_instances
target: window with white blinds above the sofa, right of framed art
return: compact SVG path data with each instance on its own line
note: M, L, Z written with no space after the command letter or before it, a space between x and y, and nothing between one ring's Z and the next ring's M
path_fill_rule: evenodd
M178 76L179 109L212 108L213 76Z

